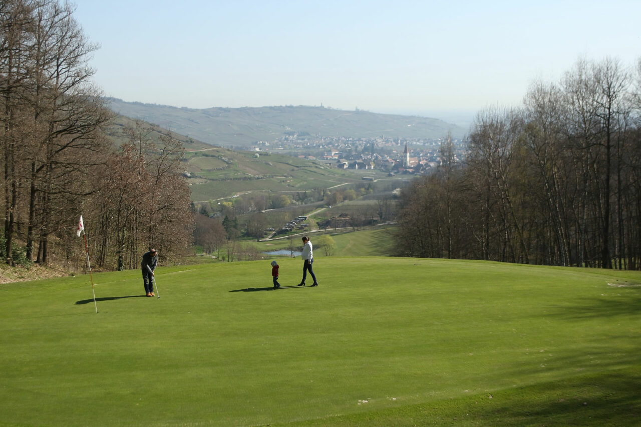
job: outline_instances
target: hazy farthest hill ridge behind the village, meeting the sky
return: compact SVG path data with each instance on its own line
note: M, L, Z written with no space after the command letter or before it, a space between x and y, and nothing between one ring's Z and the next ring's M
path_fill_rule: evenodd
M317 106L260 108L186 108L129 103L109 98L110 108L121 115L151 122L176 133L226 147L247 147L256 141L274 141L292 133L320 137L440 138L451 132L462 137L465 129L427 117L343 111Z

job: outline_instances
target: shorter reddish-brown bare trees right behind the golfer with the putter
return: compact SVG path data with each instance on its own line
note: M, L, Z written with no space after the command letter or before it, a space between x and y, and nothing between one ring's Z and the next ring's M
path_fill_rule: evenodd
M151 130L138 124L128 130L131 142L114 153L99 178L95 197L102 206L99 259L117 253L117 268L138 265L149 247L162 249L167 260L192 242L194 216L189 189L181 176L182 147L169 137L156 144Z

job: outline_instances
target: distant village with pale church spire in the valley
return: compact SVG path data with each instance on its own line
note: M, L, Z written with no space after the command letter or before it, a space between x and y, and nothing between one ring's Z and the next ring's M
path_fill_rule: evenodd
M274 142L258 141L258 153L281 153L327 163L340 169L378 169L390 174L426 174L442 163L446 138L340 138L291 135ZM465 159L467 143L451 138L454 162Z

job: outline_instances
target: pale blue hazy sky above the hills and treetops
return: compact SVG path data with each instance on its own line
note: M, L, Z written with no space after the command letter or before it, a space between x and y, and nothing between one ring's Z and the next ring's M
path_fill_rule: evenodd
M442 116L641 58L641 1L76 0L106 96ZM440 117L439 117L440 118Z

